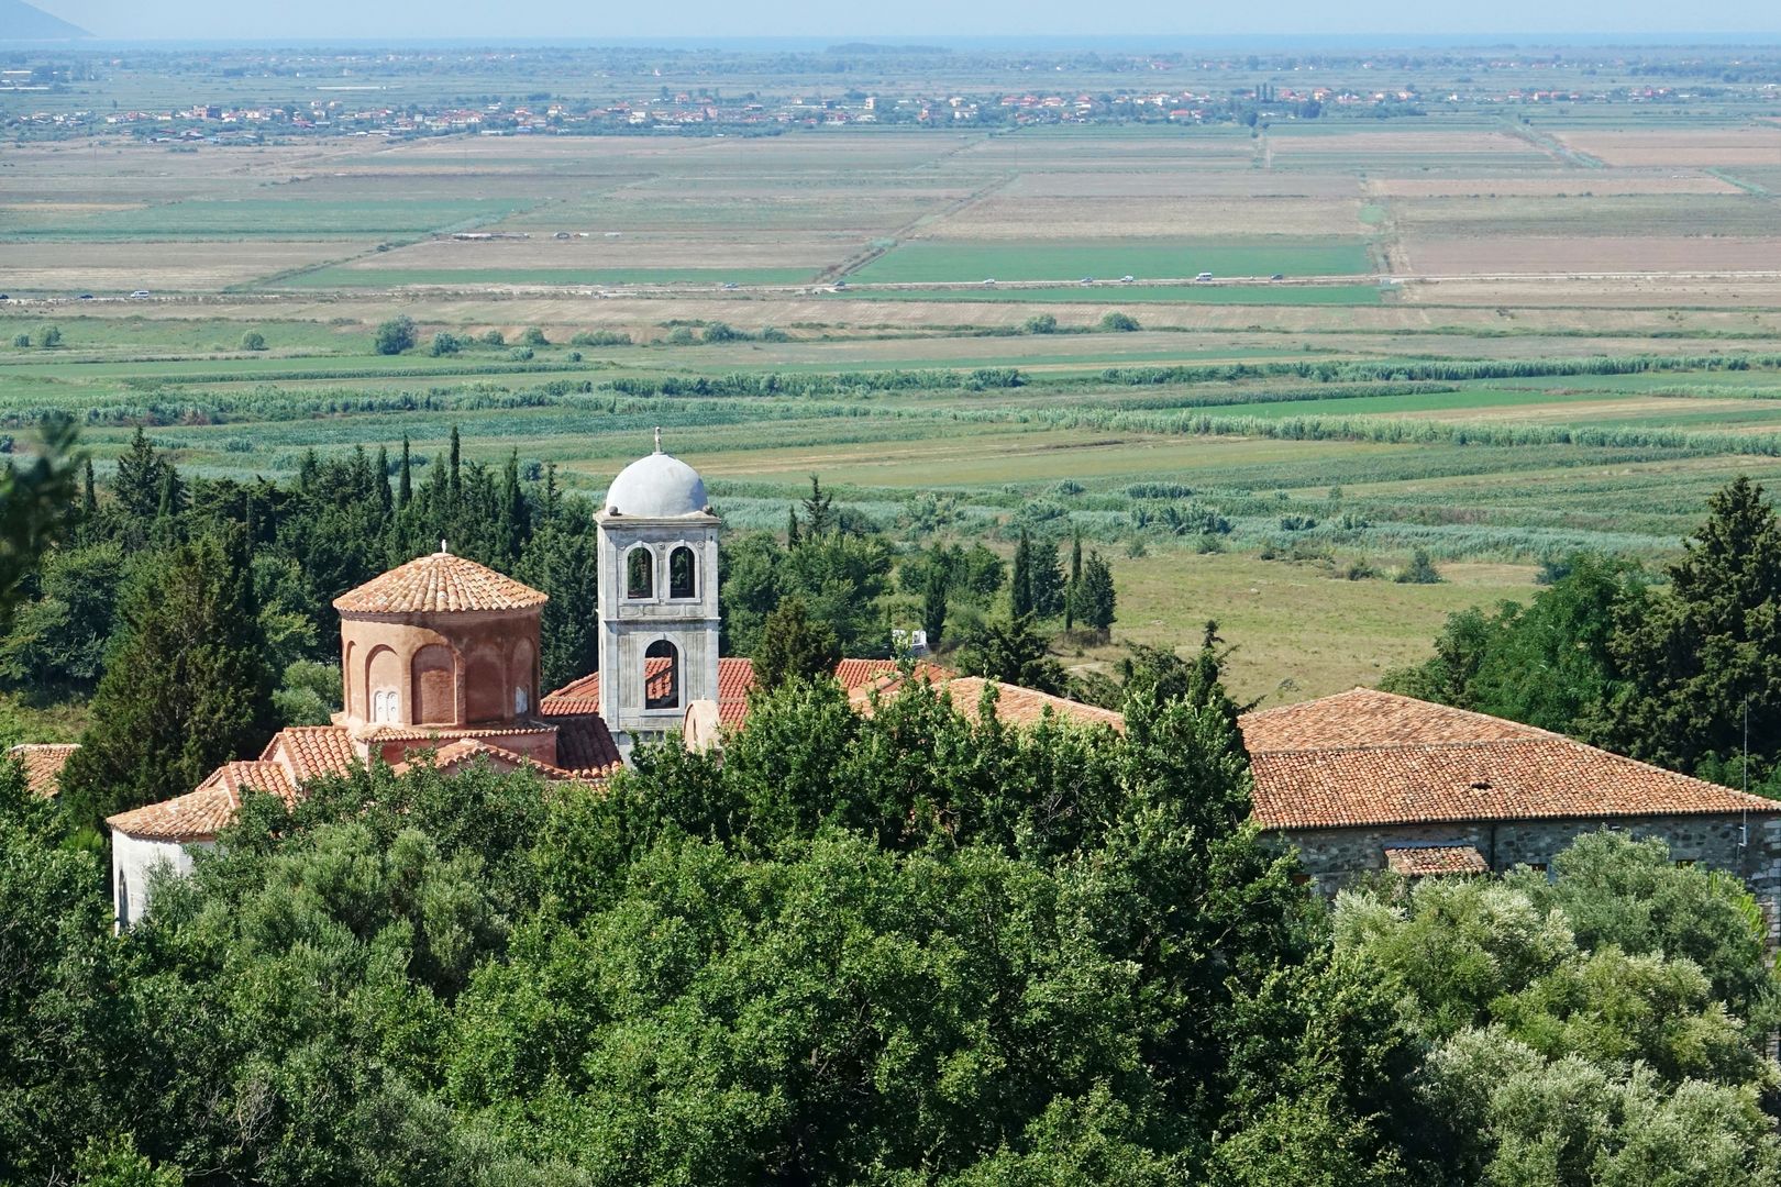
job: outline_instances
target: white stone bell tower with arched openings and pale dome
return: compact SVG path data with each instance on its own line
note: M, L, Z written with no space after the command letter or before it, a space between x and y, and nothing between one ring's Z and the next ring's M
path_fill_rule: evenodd
M663 452L613 479L595 516L600 717L618 753L679 737L693 701L718 699L718 516L705 480Z

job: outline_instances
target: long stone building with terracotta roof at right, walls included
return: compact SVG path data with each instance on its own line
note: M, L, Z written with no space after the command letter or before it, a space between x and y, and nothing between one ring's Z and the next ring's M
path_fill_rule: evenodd
M1740 876L1776 920L1781 803L1567 737L1373 689L1241 721L1256 822L1325 892L1371 870L1546 868L1582 833L1656 836Z

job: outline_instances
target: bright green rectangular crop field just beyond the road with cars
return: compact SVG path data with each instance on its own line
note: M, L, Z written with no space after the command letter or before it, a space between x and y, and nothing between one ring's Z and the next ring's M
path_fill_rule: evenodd
M1371 272L1364 240L1078 240L1026 244L901 244L850 279L876 285L999 281L1190 279L1213 276L1357 276Z

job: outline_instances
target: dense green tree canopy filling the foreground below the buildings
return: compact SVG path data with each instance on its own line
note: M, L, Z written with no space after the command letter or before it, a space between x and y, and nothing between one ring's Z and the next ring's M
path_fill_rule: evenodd
M7 767L0 1182L1777 1182L1742 886L1599 835L1329 915L1206 674L249 797L121 938Z

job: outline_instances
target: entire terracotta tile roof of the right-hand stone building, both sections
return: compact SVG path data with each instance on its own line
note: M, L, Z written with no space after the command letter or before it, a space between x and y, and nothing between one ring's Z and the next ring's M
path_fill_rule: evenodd
M1243 717L1263 828L1781 812L1571 739L1387 692Z

